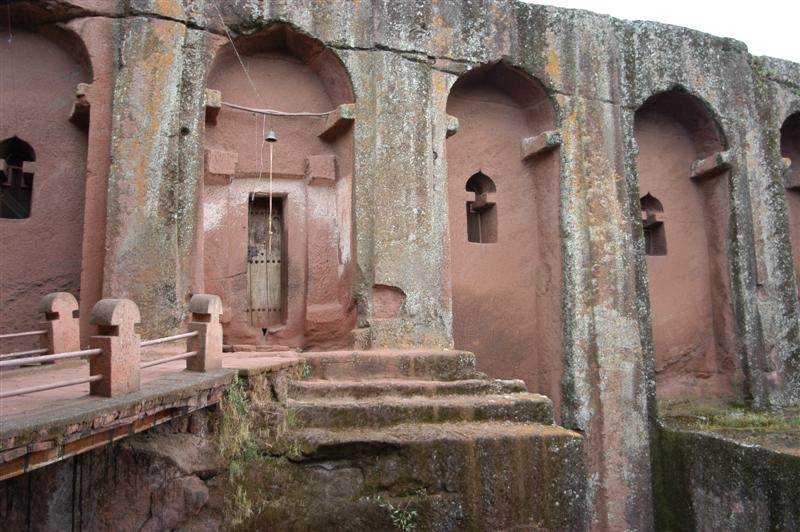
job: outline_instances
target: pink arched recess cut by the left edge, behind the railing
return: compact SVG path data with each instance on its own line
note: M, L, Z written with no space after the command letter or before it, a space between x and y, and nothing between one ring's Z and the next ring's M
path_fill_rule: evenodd
M9 13L12 23L17 10ZM0 331L38 328L42 296L80 296L87 131L76 87L85 49L66 31L0 30ZM13 198L13 199L12 199ZM7 200L15 204L10 208ZM28 348L30 346L27 346ZM3 351L13 349L6 343Z

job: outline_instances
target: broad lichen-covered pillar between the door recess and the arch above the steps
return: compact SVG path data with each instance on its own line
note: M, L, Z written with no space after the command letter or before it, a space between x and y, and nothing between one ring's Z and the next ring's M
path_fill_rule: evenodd
M447 174L436 162L446 117L430 69L384 51L343 59L351 72L373 73L353 77L362 102L354 178L360 326L376 348L452 347ZM386 295L390 315L375 312Z

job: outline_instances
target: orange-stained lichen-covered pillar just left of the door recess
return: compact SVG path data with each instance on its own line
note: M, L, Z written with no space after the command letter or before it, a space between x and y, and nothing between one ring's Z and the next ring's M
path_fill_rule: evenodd
M181 121L186 26L150 17L121 26L103 293L135 300L142 333L160 336L182 327L195 245L199 176L179 178L179 144L197 135L196 121Z

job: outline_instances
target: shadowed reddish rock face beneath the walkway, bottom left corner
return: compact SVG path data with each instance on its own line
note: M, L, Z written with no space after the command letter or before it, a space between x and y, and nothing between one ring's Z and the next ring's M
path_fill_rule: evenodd
M0 483L3 529L155 532L183 525L208 505L206 480L225 469L203 434L206 417L198 412Z

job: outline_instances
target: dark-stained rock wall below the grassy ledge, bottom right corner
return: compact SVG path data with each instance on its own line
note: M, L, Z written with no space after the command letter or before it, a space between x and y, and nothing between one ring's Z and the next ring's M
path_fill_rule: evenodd
M791 443L770 448L737 435L662 426L658 529L800 529L800 432L787 436Z

